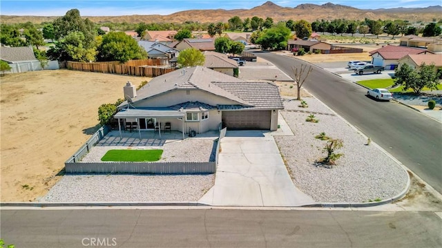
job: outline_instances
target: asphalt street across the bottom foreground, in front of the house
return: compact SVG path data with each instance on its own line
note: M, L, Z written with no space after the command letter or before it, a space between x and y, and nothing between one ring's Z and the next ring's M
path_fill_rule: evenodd
M15 247L442 247L432 212L2 210Z

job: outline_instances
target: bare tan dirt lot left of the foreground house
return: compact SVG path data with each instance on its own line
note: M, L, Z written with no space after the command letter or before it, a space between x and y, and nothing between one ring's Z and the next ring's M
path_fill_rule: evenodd
M61 177L64 162L97 130L101 104L148 77L45 70L0 78L2 202L33 201Z

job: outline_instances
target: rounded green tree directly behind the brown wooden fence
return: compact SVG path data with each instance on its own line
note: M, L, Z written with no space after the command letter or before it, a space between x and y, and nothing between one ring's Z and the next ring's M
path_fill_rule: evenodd
M120 61L131 59L146 59L146 51L138 46L137 41L124 32L109 32L103 36L102 44L98 47L99 61Z

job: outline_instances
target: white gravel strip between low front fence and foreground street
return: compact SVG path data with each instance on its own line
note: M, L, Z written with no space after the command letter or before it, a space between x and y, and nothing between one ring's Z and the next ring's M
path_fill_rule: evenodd
M41 202L195 202L211 175L65 175Z

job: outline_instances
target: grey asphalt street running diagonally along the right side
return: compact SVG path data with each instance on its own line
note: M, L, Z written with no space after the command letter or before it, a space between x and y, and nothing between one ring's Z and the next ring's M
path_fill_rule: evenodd
M290 77L305 61L255 52ZM442 125L422 113L395 102L376 102L367 89L313 66L302 85L372 141L442 193ZM344 144L345 145L345 144Z

